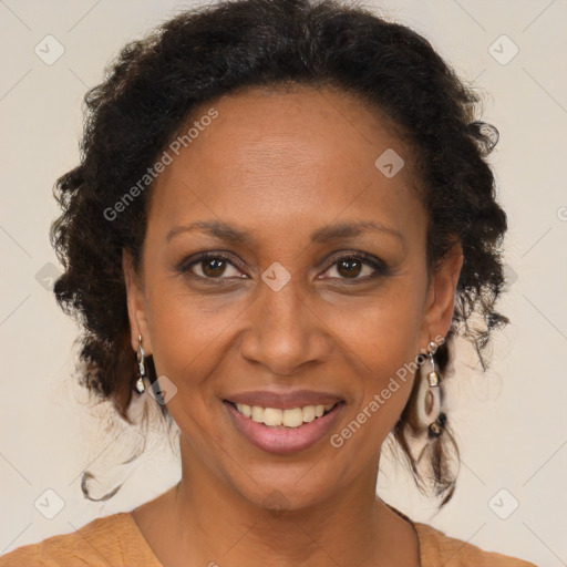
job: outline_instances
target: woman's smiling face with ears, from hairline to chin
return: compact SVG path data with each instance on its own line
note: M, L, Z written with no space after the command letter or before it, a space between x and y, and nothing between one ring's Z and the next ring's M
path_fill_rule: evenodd
M267 507L368 486L461 266L427 280L409 150L331 91L250 90L193 122L152 189L140 278L126 268L184 471Z

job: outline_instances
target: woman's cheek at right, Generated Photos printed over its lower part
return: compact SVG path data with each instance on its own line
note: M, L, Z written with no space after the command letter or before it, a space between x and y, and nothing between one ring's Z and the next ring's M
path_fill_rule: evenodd
M373 452L395 425L411 393L420 354L423 297L419 279L394 282L380 297L354 310L344 306L327 319L350 357L353 389L352 426L339 435L352 439L351 447ZM424 292L424 288L422 290ZM350 312L349 317L344 313ZM354 434L360 429L364 434ZM339 440L340 442L340 440Z

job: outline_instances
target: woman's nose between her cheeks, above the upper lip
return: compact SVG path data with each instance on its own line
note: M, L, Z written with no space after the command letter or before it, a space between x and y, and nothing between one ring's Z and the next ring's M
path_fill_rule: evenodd
M309 295L301 293L293 279L278 291L261 281L257 298L243 313L243 358L262 364L275 375L296 374L308 363L324 362L332 352L332 337L322 313L315 310Z

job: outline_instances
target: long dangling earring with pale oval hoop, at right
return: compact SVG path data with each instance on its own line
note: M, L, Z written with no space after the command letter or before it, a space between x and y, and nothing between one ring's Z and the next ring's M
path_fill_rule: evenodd
M427 357L431 368L426 374L426 382L423 377L424 369L421 371L415 412L420 425L427 427L427 437L431 440L443 433L446 415L441 411L441 383L434 358L437 346L430 342ZM429 384L429 388L426 384Z

